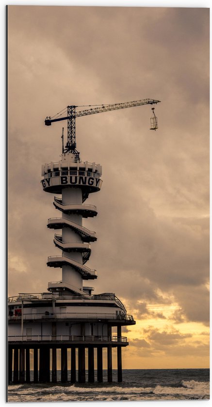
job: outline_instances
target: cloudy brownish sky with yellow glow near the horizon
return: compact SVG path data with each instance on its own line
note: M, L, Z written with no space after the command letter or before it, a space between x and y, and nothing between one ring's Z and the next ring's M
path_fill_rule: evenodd
M58 161L67 105L153 98L76 120L82 161L103 167L88 266L137 323L123 368L209 365L209 9L9 6L9 296L61 279L41 165ZM79 108L81 110L82 108ZM123 332L124 334L124 332Z

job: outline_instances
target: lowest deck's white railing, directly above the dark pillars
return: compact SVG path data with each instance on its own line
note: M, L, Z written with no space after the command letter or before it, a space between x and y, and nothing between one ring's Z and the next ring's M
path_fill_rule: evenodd
M100 336L100 335L13 335L8 336L9 342L19 342L19 341L68 341L68 342L117 342L117 343L126 343L126 336Z

